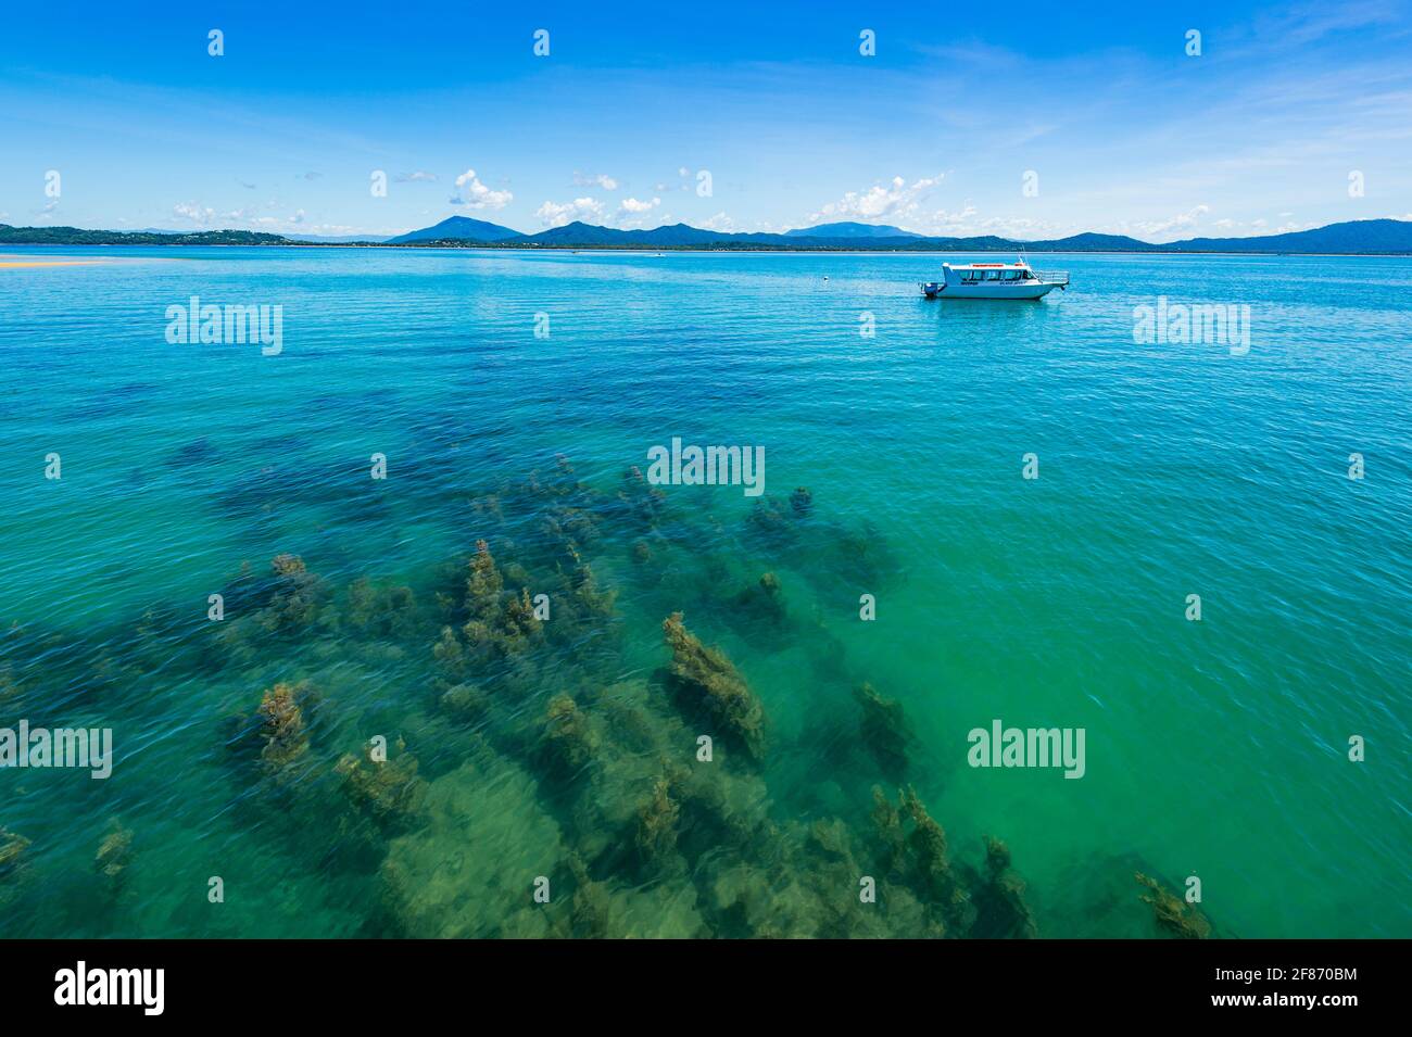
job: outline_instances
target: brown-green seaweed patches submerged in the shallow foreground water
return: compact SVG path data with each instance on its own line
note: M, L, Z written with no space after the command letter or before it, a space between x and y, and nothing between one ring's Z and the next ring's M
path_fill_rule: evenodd
M291 538L225 581L222 622L154 605L69 653L61 632L10 631L0 698L44 694L27 659L124 689L178 645L184 673L219 681L223 715L193 729L232 824L291 878L337 885L359 935L1039 935L1005 844L957 852L918 793L939 782L890 697L905 689L877 690L809 611L810 588L851 608L899 578L880 538L803 487L731 519L637 468L609 481L558 457L460 492L455 550L411 576L340 571ZM270 487L237 490L217 507ZM826 721L791 729L765 653L798 660ZM842 792L801 787L789 756ZM112 820L86 873L126 895L161 880L143 827ZM0 911L30 858L0 828ZM1209 933L1139 880L1163 934ZM202 917L179 924L201 935Z

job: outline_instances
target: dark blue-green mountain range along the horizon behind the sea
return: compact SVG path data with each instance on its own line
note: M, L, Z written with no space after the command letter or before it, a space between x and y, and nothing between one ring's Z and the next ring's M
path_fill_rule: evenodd
M247 230L114 231L0 224L0 244L378 244L380 238L319 238ZM890 226L829 223L784 234L731 234L674 223L652 230L618 230L568 223L524 234L486 220L452 216L431 227L381 241L387 245L480 248L707 248L724 251L939 251L939 253L1303 253L1412 254L1412 220L1348 220L1327 227L1262 237L1196 237L1152 244L1121 234L1073 234L1042 241L997 236L926 237Z

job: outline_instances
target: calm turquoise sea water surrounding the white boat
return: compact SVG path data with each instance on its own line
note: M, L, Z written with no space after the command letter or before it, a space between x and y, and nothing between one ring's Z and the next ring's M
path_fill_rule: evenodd
M921 255L65 255L107 262L0 269L0 728L114 765L0 770L4 935L1169 934L1134 872L1219 935L1412 935L1409 261L1043 257L1067 292L986 303ZM282 351L169 344L192 295ZM1248 353L1135 344L1158 296L1248 305ZM764 497L624 474L672 437L764 447ZM995 718L1084 776L969 766Z

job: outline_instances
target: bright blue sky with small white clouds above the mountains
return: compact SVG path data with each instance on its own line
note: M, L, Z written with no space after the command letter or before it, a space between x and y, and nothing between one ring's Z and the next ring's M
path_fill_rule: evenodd
M10 6L0 222L1165 241L1412 219L1404 1L299 8Z

